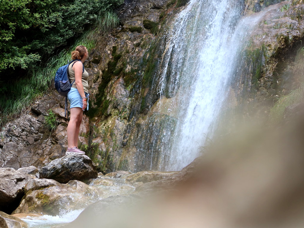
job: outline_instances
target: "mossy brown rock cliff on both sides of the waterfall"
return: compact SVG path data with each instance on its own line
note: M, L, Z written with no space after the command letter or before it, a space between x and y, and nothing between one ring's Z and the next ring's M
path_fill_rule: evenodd
M97 164L98 171L158 168L159 148L152 145L161 144L163 129L174 128L176 119L174 113L154 108L174 96L167 91L160 100L157 85L167 31L186 4L182 0L126 0L117 9L120 26L101 36L90 52L85 67L90 75L91 103L85 112L79 147ZM283 89L288 93L299 84L299 73L287 77L282 65L286 61L292 65L292 53L301 45L304 4L249 0L238 4L244 4L243 15L249 20L252 15L263 16L238 60L240 67L235 69L237 77L231 84L232 108L242 105L248 109L262 102L263 113L267 113ZM168 76L167 80L174 78ZM63 156L67 146L63 108L64 100L50 90L8 123L0 133L0 166L40 168ZM52 132L43 124L50 109L57 116ZM145 145L138 143L143 140Z

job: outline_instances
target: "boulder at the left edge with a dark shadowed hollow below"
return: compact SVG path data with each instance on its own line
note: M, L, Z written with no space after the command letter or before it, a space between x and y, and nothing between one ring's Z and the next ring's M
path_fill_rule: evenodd
M0 168L0 211L11 213L24 195L23 187L32 175L13 168Z

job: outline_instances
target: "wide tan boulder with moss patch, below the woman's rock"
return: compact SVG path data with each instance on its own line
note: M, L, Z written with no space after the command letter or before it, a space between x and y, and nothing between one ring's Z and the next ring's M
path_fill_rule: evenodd
M25 186L25 196L12 214L43 213L56 216L83 209L99 199L98 190L81 181L60 184L55 180L35 179Z

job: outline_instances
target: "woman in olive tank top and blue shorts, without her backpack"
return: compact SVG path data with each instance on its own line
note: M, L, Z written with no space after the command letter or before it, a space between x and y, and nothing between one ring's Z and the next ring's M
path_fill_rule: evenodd
M88 72L84 70L83 63L88 58L88 50L80 45L71 52L72 60L69 65L69 80L72 84L67 98L70 101L70 121L67 125L67 152L66 154L85 154L78 149L79 128L82 120L83 111L87 108L88 99Z

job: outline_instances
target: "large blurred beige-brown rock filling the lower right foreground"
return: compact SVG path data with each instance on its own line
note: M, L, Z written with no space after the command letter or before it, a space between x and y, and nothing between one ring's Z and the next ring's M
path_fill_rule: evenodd
M98 201L58 227L97 228L100 221L133 228L303 227L304 119L257 126L214 141L179 173L145 183L135 194Z

